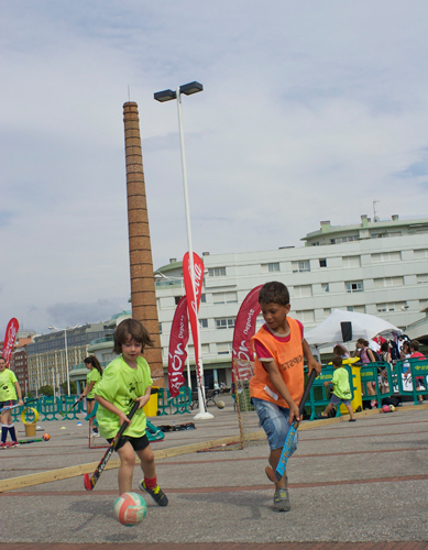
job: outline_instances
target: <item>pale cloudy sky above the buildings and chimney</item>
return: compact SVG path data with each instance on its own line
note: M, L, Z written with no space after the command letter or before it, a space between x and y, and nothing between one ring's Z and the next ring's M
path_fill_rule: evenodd
M154 267L428 215L425 0L0 0L0 340L130 309L123 103Z

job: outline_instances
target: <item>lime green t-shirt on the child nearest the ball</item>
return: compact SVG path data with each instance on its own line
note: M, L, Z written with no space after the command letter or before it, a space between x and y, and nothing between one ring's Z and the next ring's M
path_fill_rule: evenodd
M128 415L136 397L144 395L152 384L150 366L144 358L139 356L136 359L136 369L131 369L120 355L107 365L102 378L97 385L96 394ZM118 415L110 413L101 405L98 406L97 420L103 438L110 439L118 433L120 429ZM141 438L145 433L145 414L141 408L133 416L131 425L127 428L124 435Z

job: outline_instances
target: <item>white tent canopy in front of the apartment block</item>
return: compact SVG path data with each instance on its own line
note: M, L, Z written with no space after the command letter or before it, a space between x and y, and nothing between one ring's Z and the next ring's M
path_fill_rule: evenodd
M394 332L400 333L400 329L388 321L367 314L354 314L353 311L343 311L333 309L332 312L318 327L305 333L305 340L310 346L323 348L343 342L340 323L350 321L352 323L352 341L359 338L371 340L376 334L384 337Z

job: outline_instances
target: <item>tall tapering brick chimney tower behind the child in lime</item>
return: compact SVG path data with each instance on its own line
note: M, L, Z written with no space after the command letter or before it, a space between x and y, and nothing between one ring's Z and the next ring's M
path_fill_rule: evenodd
M143 155L141 152L139 107L135 102L129 101L123 105L123 122L132 318L144 324L155 342L154 348L145 349L144 356L152 370L153 384L164 387Z

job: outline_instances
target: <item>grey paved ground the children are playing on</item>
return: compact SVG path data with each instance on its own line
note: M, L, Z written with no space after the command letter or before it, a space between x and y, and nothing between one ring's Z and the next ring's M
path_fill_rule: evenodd
M212 420L165 435L155 450L238 433L231 402L209 407ZM164 416L153 424L194 421L193 415ZM88 449L87 424L40 424L48 442L0 454L1 480L98 462ZM61 429L65 427L65 429ZM23 430L22 424L18 429ZM37 431L40 437L42 431ZM25 433L19 433L25 439ZM228 449L226 447L224 449ZM289 460L293 509L272 510L273 485L264 474L265 442L244 450L194 452L157 461L158 481L169 505L147 499L142 524L125 528L112 516L117 470L105 471L94 492L83 476L30 485L0 494L2 550L421 550L428 548L428 406L393 414L358 416L355 424L304 422L298 451ZM138 491L140 469L134 473ZM147 497L149 498L149 497Z

